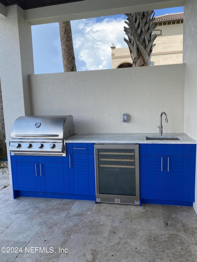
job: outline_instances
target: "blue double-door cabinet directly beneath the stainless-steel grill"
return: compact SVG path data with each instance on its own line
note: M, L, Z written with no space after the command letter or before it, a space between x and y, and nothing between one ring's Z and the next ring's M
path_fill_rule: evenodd
M11 156L11 164L13 190L65 192L68 172L64 172L63 166L68 164L63 164L62 157Z

